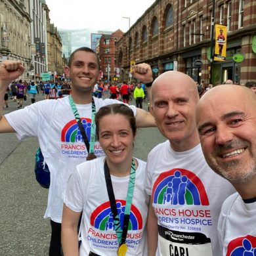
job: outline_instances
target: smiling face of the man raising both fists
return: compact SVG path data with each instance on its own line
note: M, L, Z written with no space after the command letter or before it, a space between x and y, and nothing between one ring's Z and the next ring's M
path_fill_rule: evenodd
M72 80L72 92L91 93L101 76L95 54L87 51L74 53L70 67L65 67L65 72Z

